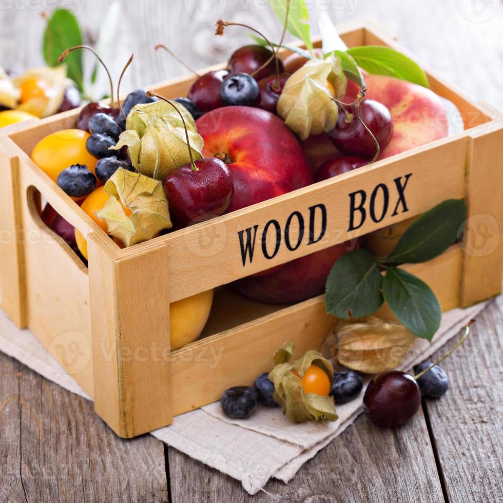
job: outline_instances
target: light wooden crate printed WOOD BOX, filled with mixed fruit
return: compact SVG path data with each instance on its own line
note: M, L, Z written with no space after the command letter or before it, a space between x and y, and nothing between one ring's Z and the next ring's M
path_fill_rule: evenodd
M380 44L407 52L373 22L339 30L349 46ZM269 356L286 341L294 341L299 354L319 349L335 321L325 313L322 296L272 306L224 287L217 290L206 337L170 353L169 302L421 214L447 198L465 198L468 204L462 246L407 269L433 288L444 311L497 295L503 264L503 120L427 73L432 90L460 110L465 131L127 249L30 160L47 134L74 127L78 111L6 128L0 133L2 308L48 348L118 435L133 437L217 400L229 386L250 384L269 370ZM152 88L174 98L186 95L193 79ZM371 193L379 183L392 189L396 178L409 173L408 212L389 212L379 223L367 219L356 231L346 230L351 192ZM39 193L87 237L89 268L43 224ZM284 225L293 211L305 217L319 204L327 214L323 239L304 240L295 251L282 246L270 260L257 253L243 265L240 231L258 225L261 233L270 219ZM317 221L315 233L320 230Z

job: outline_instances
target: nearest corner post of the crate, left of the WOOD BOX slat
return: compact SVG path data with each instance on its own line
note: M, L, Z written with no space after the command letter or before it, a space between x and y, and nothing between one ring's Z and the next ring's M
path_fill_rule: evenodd
M94 409L123 438L172 422L168 254L119 256L104 233L87 237Z

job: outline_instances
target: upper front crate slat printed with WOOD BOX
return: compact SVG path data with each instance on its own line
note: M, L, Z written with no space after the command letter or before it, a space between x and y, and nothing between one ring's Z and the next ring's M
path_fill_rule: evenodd
M424 147L417 153L380 161L375 166L360 168L159 238L168 244L170 298L176 301L194 295L419 215L445 199L463 198L467 143L466 138L459 138L436 147ZM405 186L403 197L407 211L403 211L405 206L400 201L398 185ZM381 219L385 192L389 195L388 209ZM351 211L351 205L354 201L357 208L363 197L366 217L360 226L362 212ZM372 201L378 221L372 220ZM324 227L323 210L318 205L323 205L326 212ZM301 244L290 250L285 233L286 222L293 212L298 212L303 219L304 234ZM350 229L352 216L355 230ZM298 215L291 219L290 244L297 243L298 222ZM276 224L280 229L279 239ZM323 237L316 241L322 229ZM310 242L311 235L316 242ZM246 252L247 241L255 242L251 262L249 250ZM147 249L149 244L144 246ZM269 258L276 247L276 255ZM131 248L120 253L137 252Z

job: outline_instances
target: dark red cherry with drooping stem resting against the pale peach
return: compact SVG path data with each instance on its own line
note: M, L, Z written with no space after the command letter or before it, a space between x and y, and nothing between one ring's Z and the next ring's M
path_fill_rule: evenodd
M345 154L372 159L376 153L376 145L371 135L358 121L356 107L346 107L353 115L350 122L346 115L339 113L335 129L329 134L334 145ZM360 105L360 117L376 137L381 151L390 143L393 135L393 120L390 111L382 103L365 100Z

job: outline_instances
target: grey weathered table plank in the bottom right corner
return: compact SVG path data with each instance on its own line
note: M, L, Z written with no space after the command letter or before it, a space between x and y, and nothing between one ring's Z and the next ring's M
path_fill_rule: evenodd
M503 298L498 297L477 317L465 343L441 364L451 381L447 394L423 401L450 501L501 501L502 360Z

